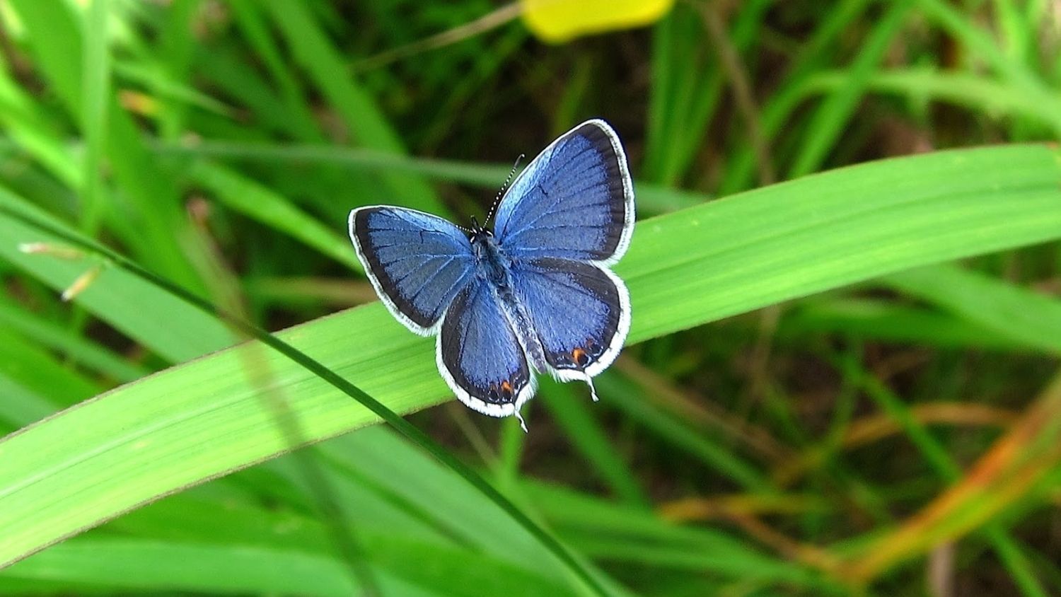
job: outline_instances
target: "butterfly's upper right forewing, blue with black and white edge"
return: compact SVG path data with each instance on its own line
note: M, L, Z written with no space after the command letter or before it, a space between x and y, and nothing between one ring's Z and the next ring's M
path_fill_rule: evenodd
M587 121L546 147L498 206L494 234L516 259L614 263L633 231L633 183L615 131Z

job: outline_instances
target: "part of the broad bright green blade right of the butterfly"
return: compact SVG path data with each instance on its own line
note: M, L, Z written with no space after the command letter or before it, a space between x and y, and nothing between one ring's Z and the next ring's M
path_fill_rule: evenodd
M971 250L1002 250L1019 238L1056 239L1059 173L1057 154L1040 145L939 152L642 222L615 268L631 287L631 339ZM975 241L974 230L981 231Z

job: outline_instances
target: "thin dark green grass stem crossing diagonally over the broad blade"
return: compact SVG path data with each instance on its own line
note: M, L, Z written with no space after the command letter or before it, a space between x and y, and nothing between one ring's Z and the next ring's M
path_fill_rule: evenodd
M222 318L229 326L239 330L240 333L246 334L254 337L255 339L261 341L262 344L268 346L273 350L283 354L291 361L299 364L301 367L311 371L317 377L326 381L334 388L338 389L343 393L349 396L353 400L360 402L366 408L375 412L378 417L389 423L399 433L407 437L411 441L419 445L421 449L430 453L432 456L437 458L443 464L452 469L455 473L464 477L469 484L474 486L477 490L483 492L487 497L489 497L499 508L507 512L512 516L518 523L523 526L528 533L540 541L553 555L572 573L572 575L581 581L589 590L597 595L607 595L607 591L597 580L595 575L589 570L577 558L576 556L566 547L556 537L546 531L544 528L536 524L530 520L522 510L517 508L511 502L509 502L504 495L502 495L497 489L493 488L489 482L486 481L482 476L479 475L471 468L462 462L456 456L450 454L441 445L437 444L428 437L427 434L421 432L418 427L412 423L405 421L393 410L384 406L382 403L377 401L375 398L368 396L356 386L351 384L345 377L338 375L320 362L298 351L292 345L281 340L279 337L257 328L256 326L233 317L227 313L220 312L209 302L201 299L199 297L189 293L188 291L177 286L176 284L161 278L142 267L136 263L125 259L124 257L111 251L107 247L94 243L92 241L74 236L65 232L62 229L55 228L47 222L41 222L31 215L25 214L21 211L16 211L11 209L6 205L0 205L0 213L4 213L7 217L21 222L22 224L45 231L49 234L63 239L64 242L69 243L72 246L81 247L87 251L92 251L104 256L106 259L114 262L114 264L131 274L142 278L143 280L167 291L169 294L179 297L188 304L196 308L197 310L206 313L207 315Z

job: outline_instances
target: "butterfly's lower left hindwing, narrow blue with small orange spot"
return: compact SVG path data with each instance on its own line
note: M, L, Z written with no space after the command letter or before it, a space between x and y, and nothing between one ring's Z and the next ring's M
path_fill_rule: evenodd
M518 415L534 396L523 348L497 294L482 278L453 299L438 334L436 361L457 398L480 412Z

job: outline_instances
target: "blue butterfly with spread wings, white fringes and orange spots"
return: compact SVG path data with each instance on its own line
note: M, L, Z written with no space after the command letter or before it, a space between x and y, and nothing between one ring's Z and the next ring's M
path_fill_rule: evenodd
M630 330L630 295L610 266L633 233L633 182L619 137L590 120L536 157L497 205L493 230L421 211L350 212L350 239L390 314L438 335L453 393L492 417L534 397L536 372L590 385ZM487 222L489 217L487 217Z

